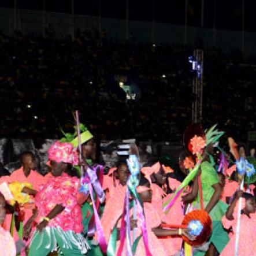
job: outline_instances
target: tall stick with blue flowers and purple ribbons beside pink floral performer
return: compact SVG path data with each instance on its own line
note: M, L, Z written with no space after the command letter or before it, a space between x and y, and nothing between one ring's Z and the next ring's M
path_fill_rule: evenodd
M78 147L79 147L79 158L80 158L80 162L81 162L81 160L82 160L82 157L81 157L81 135L80 135L79 112L77 110L76 110L76 127L77 127L77 140L78 140ZM103 253L106 253L106 251L107 251L106 238L103 233L101 220L99 219L97 205L94 202L92 185L94 185L95 192L97 192L97 194L99 194L99 198L101 199L101 201L103 201L103 199L105 199L105 194L102 190L101 184L99 184L99 181L98 181L97 177L95 177L95 176L97 176L96 169L91 170L91 168L87 166L87 169L85 170L84 165L81 165L80 192L83 192L85 195L87 195L88 192L90 193L92 207L94 210L94 222L95 222L95 226L96 226L96 229L98 232L99 247L101 247L101 250Z

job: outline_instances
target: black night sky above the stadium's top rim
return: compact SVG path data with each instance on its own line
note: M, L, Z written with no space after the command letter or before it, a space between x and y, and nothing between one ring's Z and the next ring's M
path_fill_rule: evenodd
M17 0L21 9L43 9L43 0ZM100 0L74 0L75 13L99 15ZM152 21L153 0L129 0L131 20ZM185 0L154 0L155 21L159 23L184 24ZM215 0L216 28L242 29L243 0ZM201 0L188 0L188 25L199 26L201 20ZM256 1L245 2L246 31L256 32ZM13 1L1 1L1 7L13 8ZM101 0L102 17L125 18L126 0ZM205 27L213 27L214 0L205 0ZM46 0L46 10L50 12L71 12L71 0Z

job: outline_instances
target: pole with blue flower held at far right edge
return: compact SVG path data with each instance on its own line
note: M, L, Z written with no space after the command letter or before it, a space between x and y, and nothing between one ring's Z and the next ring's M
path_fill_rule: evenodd
M231 154L236 160L236 169L238 170L238 180L240 190L244 188L244 176L247 176L250 182L250 177L254 175L255 169L254 165L249 164L246 160L246 155L244 153L243 147L240 148L238 152L238 144L232 138L228 138L229 149ZM238 224L236 226L236 243L235 243L235 256L238 256L238 244L239 244L239 233L240 233L240 221L241 221L241 210L242 210L242 197L239 198L238 204Z

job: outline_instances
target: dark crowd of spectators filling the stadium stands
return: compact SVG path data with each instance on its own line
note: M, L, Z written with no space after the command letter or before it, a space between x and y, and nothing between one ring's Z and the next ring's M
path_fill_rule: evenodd
M180 142L191 122L188 56L192 46L110 42L94 31L75 40L36 34L0 35L0 134L59 138L72 112L98 139ZM239 139L255 129L254 56L205 49L203 123L218 123ZM128 101L114 77L132 77L141 90Z

